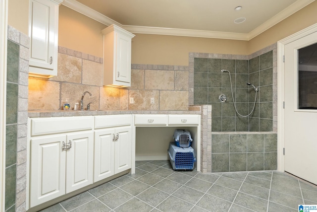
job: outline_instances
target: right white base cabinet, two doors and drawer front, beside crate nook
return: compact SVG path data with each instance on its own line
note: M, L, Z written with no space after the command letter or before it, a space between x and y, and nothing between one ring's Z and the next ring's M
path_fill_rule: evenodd
M95 116L94 182L131 168L132 115Z

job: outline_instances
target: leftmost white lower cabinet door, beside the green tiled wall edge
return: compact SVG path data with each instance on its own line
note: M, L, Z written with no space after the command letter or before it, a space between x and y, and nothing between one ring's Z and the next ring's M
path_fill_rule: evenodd
M65 194L66 136L31 139L30 207Z

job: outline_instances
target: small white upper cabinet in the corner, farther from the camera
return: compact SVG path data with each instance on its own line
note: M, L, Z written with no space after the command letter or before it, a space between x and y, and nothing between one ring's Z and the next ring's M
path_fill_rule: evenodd
M104 85L131 86L130 32L112 24L102 30L104 35Z

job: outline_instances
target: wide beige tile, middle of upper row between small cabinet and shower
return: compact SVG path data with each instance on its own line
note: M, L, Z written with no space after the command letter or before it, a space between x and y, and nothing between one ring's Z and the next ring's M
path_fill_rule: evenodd
M175 71L145 70L145 89L174 90Z

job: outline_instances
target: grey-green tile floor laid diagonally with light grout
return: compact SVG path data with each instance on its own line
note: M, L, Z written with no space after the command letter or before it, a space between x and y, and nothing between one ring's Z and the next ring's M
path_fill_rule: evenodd
M277 171L202 174L169 161L137 161L136 173L42 212L298 212L317 205L317 187Z

